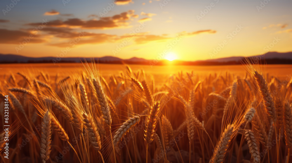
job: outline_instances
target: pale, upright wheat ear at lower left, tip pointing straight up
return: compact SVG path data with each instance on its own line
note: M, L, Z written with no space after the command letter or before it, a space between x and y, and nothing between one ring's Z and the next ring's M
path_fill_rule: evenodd
M47 110L44 114L43 122L41 123L41 159L43 160L43 163L46 163L50 157L51 136L51 116Z

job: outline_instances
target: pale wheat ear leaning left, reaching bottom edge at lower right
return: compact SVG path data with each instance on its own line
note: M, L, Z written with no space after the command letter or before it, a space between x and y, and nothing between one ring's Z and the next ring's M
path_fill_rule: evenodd
M251 158L253 158L253 162L260 163L260 148L257 144L258 138L251 130L246 130L244 135L248 144L249 153L251 154Z

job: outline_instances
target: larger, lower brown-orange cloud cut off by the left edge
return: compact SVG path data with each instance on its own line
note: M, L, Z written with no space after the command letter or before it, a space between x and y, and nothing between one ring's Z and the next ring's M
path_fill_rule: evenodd
M32 35L33 38L29 39L29 36ZM26 31L16 31L8 29L0 29L0 44L19 44L19 42L25 41L25 38L29 41L27 43L41 43L45 40L39 38L39 35L33 35L32 33Z

